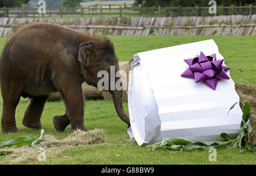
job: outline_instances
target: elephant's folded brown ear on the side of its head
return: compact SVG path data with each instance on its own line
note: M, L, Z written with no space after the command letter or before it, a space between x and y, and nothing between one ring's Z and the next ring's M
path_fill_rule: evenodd
M86 57L87 57L87 52L90 51L90 49L92 49L93 47L93 42L92 41L86 41L83 42L79 45L79 57L78 57L78 61L80 64L80 73L83 73L83 70L86 66Z

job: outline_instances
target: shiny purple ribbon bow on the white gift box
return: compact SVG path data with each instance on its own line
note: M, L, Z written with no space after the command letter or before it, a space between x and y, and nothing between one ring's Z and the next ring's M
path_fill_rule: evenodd
M184 78L195 78L195 82L204 81L213 90L216 89L218 79L230 79L225 73L228 66L222 65L224 59L216 60L216 54L205 56L203 52L195 58L184 60L189 68L181 74Z

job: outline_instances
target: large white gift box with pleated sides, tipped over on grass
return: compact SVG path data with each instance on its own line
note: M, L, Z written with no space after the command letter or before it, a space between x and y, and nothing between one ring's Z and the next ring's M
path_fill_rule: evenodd
M170 137L212 141L221 132L240 133L242 111L234 81L221 79L216 90L180 75L188 68L184 59L203 52L224 59L213 40L137 53L131 63L128 105L129 135L138 145ZM225 65L225 64L224 64ZM229 75L229 71L226 72Z

